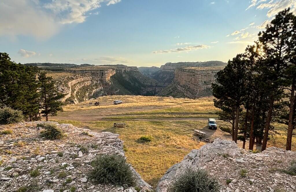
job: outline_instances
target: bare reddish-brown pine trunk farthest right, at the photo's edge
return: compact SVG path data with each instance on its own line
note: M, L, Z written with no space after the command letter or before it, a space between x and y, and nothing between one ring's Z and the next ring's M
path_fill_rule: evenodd
M295 105L294 92L295 92L295 78L292 81L292 87L291 87L289 122L288 122L288 132L287 132L287 142L286 142L286 150L290 150L290 151L291 151L292 135L293 135L293 112L294 112L294 105Z

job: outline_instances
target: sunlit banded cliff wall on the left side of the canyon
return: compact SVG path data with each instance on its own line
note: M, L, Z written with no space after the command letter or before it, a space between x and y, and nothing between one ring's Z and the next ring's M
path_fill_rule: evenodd
M155 95L161 85L143 76L137 67L125 65L65 68L56 79L65 103L78 103L102 95Z

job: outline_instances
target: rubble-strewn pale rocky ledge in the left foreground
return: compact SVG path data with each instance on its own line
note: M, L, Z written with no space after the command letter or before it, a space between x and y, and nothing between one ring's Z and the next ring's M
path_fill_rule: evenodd
M20 191L21 187L34 185L33 191L42 192L136 192L134 187L96 185L88 178L90 163L98 154L124 156L118 134L97 133L53 122L66 136L62 140L46 140L40 137L36 127L39 123L44 121L0 126L0 131L12 130L10 134L0 135L0 191ZM151 186L131 169L141 192L150 189Z

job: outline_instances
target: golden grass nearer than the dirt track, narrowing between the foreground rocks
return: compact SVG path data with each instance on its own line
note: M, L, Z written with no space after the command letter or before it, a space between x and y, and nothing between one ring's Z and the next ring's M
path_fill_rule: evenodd
M192 149L205 143L192 139L193 129L205 122L197 121L124 121L125 128L114 128L111 121L61 121L95 131L110 131L120 134L124 141L125 154L129 163L141 177L156 187L158 180L172 165L180 162ZM151 135L151 142L141 143L138 139Z

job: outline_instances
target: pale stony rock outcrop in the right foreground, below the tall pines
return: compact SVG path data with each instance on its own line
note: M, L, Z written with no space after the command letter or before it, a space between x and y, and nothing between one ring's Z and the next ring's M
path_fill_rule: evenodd
M207 170L218 179L221 191L296 191L296 176L280 171L295 160L293 151L270 147L261 153L252 153L238 148L233 141L216 139L199 150L192 150L183 161L170 167L156 191L166 192L170 182L186 167Z

